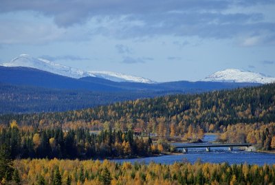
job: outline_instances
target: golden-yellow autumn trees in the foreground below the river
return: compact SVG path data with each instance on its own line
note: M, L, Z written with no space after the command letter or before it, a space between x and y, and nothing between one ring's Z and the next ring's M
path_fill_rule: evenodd
M275 184L275 165L15 160L21 184Z

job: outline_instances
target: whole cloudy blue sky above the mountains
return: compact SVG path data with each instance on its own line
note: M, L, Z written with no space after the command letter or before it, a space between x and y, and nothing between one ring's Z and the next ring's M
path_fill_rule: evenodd
M0 61L19 54L156 81L226 68L275 76L274 0L0 0Z

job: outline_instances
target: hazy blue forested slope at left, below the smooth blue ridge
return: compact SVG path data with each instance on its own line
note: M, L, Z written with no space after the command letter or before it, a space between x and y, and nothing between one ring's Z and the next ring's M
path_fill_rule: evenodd
M47 89L0 83L0 114L34 113L87 109L112 102L161 96L164 92L88 91L79 89Z

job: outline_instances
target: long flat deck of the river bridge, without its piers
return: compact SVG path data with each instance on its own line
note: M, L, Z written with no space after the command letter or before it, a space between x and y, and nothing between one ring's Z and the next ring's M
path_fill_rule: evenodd
M176 148L206 148L206 147L241 147L241 146L253 146L253 143L243 143L243 144L173 144Z

